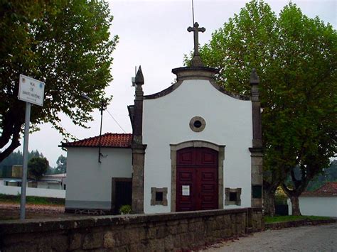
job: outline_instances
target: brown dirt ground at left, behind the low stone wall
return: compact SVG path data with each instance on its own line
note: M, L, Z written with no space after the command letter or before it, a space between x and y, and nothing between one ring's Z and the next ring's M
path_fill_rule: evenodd
M26 219L43 219L70 217L74 214L65 214L65 207L26 204ZM19 219L20 204L0 202L0 220Z

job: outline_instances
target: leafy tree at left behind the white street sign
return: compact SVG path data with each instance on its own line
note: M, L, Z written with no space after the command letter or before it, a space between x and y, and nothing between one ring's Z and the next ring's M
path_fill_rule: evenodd
M25 114L17 99L20 74L46 83L43 107L31 108L33 130L50 122L69 137L59 124L61 112L80 126L92 120L90 111L112 80L118 37L109 38L111 22L105 1L1 1L0 162L20 145ZM96 103L81 99L82 93Z

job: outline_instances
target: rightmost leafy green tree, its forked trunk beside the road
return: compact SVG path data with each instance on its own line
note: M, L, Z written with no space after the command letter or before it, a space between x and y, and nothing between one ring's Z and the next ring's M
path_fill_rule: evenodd
M296 177L293 166L291 186L283 182L282 188L291 199L293 215L301 215L299 195L336 155L337 33L319 18L304 16L293 4L282 10L279 26L284 44L280 55L289 60L286 77L292 89L289 90L292 101L284 104L294 131L293 157L301 171L300 177Z

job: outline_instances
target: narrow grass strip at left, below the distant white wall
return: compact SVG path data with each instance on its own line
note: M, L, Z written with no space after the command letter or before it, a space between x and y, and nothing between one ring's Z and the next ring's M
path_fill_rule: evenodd
M4 203L20 203L20 195L3 195L0 194L0 202ZM65 199L58 198L47 198L47 197L36 197L36 196L27 196L27 204L43 204L43 205L54 205L54 206L64 206Z

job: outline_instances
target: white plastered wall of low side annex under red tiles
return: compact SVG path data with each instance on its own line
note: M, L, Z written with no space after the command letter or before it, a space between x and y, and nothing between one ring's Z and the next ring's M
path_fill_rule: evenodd
M67 190L68 209L110 209L112 177L131 177L132 150L102 148L102 163L98 163L98 148L68 148Z

